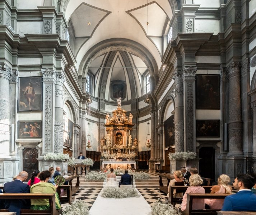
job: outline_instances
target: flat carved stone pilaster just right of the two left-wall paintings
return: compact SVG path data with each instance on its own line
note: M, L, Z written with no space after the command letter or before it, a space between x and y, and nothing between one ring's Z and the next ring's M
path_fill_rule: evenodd
M42 154L54 152L54 113L55 113L55 78L56 72L53 69L42 69L43 75L43 146ZM62 149L63 150L63 149ZM63 151L62 151L63 152Z

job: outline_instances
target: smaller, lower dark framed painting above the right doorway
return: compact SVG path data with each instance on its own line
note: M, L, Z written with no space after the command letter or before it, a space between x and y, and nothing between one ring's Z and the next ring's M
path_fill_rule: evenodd
M220 120L196 120L196 137L219 137Z

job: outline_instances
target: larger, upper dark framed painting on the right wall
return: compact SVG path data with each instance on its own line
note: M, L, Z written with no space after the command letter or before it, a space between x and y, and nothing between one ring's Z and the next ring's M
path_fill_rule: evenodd
M196 75L196 109L220 109L219 75Z

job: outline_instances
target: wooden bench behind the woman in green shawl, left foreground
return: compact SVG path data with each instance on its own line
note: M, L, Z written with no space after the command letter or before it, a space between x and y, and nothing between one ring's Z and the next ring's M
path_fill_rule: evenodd
M55 194L0 194L0 199L49 199L50 210L22 209L20 214L58 215L61 213L55 208ZM8 212L8 210L1 209L0 212Z

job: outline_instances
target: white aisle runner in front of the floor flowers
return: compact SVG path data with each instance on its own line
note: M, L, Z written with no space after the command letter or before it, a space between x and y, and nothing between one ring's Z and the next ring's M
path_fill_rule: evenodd
M102 191L101 191L102 192ZM139 197L110 199L103 198L98 195L90 209L90 215L150 215L151 207L144 197L140 194Z

